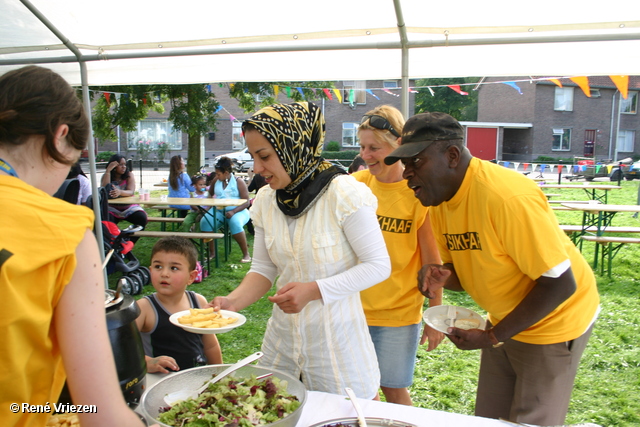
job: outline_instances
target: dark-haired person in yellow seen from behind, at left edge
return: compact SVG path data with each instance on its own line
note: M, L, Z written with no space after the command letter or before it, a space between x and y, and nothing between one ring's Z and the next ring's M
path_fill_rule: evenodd
M0 76L0 405L3 427L47 425L65 379L83 426L143 423L122 396L93 213L51 197L90 127L76 91L28 66ZM11 405L13 403L13 405ZM20 406L10 411L11 406Z

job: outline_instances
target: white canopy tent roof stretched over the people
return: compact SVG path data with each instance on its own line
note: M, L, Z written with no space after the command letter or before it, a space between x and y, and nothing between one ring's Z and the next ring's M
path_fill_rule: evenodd
M640 72L637 0L0 0L0 16L0 74L49 67L82 85L87 105L88 85L401 79L407 88L427 77Z

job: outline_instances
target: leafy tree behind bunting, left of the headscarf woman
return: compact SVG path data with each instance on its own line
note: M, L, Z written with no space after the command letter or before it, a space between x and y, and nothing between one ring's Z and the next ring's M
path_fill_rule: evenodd
M126 94L120 100L107 101L100 97L94 107L93 128L99 140L115 140L115 129L120 126L124 131L137 129L139 120L147 117L151 109L158 111L162 102L169 100L171 112L169 120L176 130L188 135L187 173L198 172L203 160L200 156L200 139L209 131L215 131L216 112L219 103L215 94L205 84L192 85L137 85L118 86L116 88L92 87L92 93L118 92ZM251 113L257 109L277 102L276 90L286 93L292 101L312 101L326 98L325 93L317 88L333 88L332 82L283 82L283 83L255 83L243 82L229 84L229 94L236 98L240 108ZM154 96L149 96L154 94ZM260 101L255 95L260 95ZM153 99L150 99L153 98ZM164 109L162 108L162 111ZM159 111L159 112L162 112Z

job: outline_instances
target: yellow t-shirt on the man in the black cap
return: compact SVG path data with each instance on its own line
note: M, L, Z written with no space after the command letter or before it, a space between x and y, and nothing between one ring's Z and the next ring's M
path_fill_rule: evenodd
M600 300L593 271L535 182L473 158L455 196L430 212L442 261L453 263L464 290L492 324L522 301L535 279L569 259L575 293L513 338L554 344L586 331Z

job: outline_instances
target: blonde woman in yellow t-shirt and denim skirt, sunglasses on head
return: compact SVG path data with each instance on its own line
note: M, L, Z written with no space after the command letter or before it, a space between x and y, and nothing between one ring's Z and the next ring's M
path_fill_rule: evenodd
M391 257L391 276L360 292L380 365L380 387L387 402L411 405L418 342L427 339L427 351L444 335L425 325L420 338L424 297L415 285L423 264L439 264L440 255L431 231L428 208L422 206L402 178L402 163L386 165L384 158L397 146L404 126L402 113L381 105L362 118L358 129L360 156L367 169L352 176L365 183L378 198L377 215ZM442 303L442 292L429 300Z

